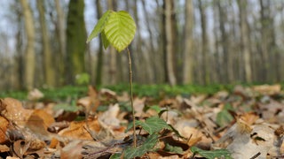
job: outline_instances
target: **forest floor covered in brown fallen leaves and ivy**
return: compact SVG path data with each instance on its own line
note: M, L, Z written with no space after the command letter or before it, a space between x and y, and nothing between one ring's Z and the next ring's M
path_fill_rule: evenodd
M2 98L0 157L284 158L280 85L135 95L133 106L136 148L126 92L89 87L52 100L35 89L26 100Z

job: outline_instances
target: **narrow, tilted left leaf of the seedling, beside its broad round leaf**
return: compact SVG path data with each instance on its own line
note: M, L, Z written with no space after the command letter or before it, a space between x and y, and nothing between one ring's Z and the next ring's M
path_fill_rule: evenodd
M90 36L87 39L87 42L90 42L93 38L98 36L98 34L104 29L104 27L106 26L107 19L109 18L111 12L113 12L113 11L108 10L101 16L101 18L99 19L97 25L91 31L91 34L90 34Z

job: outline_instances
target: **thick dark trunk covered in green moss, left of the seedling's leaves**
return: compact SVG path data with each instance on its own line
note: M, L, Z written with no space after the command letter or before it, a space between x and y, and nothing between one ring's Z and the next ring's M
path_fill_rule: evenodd
M84 54L86 51L86 28L83 18L84 2L71 0L67 15L67 80L69 84L75 82L75 75L85 71Z

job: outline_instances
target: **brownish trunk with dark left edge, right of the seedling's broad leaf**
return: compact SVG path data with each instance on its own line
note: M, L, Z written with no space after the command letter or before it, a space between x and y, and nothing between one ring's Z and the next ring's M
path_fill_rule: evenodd
M164 13L165 13L165 36L166 36L166 72L168 74L168 81L171 86L174 86L177 84L177 78L175 74L175 68L174 68L174 39L173 39L173 33L172 33L172 19L171 14L174 11L174 1L171 0L163 0L164 3Z

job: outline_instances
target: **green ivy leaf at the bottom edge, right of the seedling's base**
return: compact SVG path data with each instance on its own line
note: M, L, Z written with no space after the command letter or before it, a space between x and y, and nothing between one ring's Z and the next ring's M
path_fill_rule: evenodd
M206 151L196 147L192 147L190 149L193 152L193 154L199 154L208 159L215 159L215 158L232 159L230 152L226 149L217 149L212 151Z

